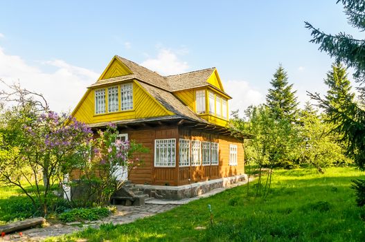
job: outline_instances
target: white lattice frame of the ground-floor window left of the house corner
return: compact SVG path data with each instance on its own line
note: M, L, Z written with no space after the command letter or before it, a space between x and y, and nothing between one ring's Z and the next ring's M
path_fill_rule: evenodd
M159 145L167 145L170 147L158 147ZM159 156L157 157L157 149L160 149ZM163 150L166 149L166 150ZM162 153L161 157L161 151L168 152L168 149L170 149L170 155L166 156L167 158L170 158L170 160L162 160L157 162L157 158L164 159L164 154ZM173 155L172 155L173 151ZM154 167L175 167L176 166L176 139L156 139L154 140Z

